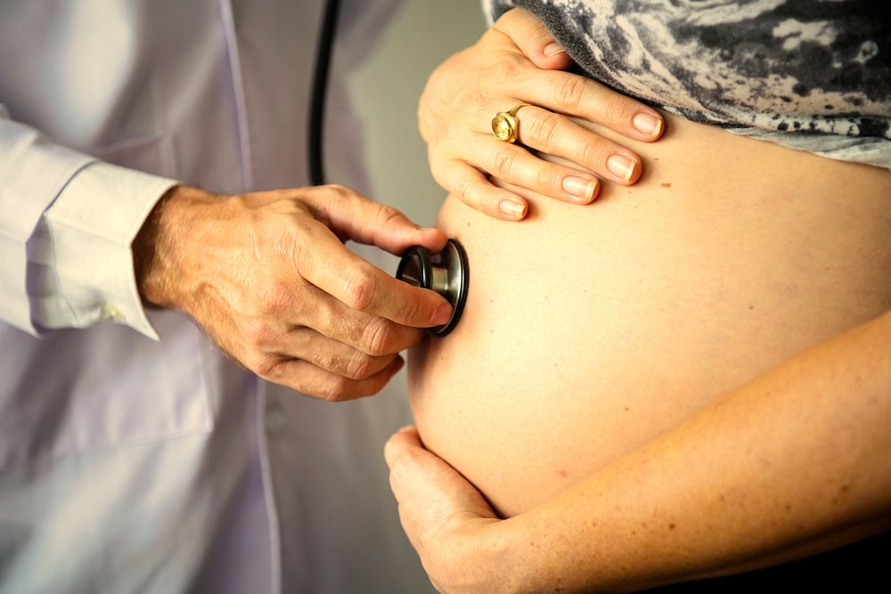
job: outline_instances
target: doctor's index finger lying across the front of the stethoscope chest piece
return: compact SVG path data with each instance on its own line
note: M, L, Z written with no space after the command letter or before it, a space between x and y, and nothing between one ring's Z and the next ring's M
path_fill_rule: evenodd
M397 324L429 328L446 323L452 315L452 306L435 291L397 281L356 256L332 232L319 233L308 249L300 251L298 272L348 308Z

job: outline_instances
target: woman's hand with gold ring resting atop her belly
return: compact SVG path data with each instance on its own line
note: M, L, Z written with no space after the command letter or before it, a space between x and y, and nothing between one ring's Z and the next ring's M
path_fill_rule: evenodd
M526 216L527 202L487 175L539 194L586 204L599 191L595 175L631 184L641 159L625 147L577 126L589 119L638 141L665 129L657 110L585 77L563 72L571 60L530 12L513 9L476 45L454 54L430 76L418 110L430 169L446 190L503 219ZM492 134L496 113L523 103L516 143ZM565 114L565 115L563 115ZM567 159L566 167L532 151Z

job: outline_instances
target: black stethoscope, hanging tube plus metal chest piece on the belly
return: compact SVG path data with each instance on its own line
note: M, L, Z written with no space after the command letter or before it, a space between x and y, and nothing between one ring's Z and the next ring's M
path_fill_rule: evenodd
M337 29L340 0L326 0L322 14L322 30L315 51L313 93L310 98L308 130L309 180L313 185L325 183L323 167L323 125L325 98L328 91L328 72L331 67L331 50ZM446 248L431 255L421 246L408 248L396 268L396 278L414 287L435 290L452 305L452 317L442 326L429 328L435 336L446 336L454 330L467 301L470 267L467 252L456 240L448 240Z

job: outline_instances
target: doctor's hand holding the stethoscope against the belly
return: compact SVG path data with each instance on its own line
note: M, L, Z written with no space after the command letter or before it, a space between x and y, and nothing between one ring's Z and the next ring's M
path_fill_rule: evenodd
M137 283L257 375L325 400L375 394L452 308L356 256L438 252L446 235L340 186L218 196L178 186L134 242Z

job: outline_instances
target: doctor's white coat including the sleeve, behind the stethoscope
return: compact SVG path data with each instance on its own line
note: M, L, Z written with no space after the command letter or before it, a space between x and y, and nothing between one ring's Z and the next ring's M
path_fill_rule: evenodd
M362 191L344 77L397 1L341 9L327 154ZM0 2L0 592L431 590L381 459L404 389L274 387L135 291L130 241L174 181L307 184L320 13Z

